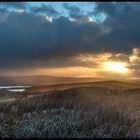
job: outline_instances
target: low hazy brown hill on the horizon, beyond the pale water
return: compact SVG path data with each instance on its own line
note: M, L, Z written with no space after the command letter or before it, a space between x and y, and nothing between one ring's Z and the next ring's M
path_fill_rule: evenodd
M0 76L0 86L9 85L55 85L66 83L83 83L102 81L100 78L72 78L72 77L56 77L56 76Z

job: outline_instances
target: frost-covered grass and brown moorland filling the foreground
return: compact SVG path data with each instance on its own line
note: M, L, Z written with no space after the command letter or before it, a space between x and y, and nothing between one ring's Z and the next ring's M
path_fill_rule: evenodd
M140 90L83 87L1 103L0 137L140 137Z

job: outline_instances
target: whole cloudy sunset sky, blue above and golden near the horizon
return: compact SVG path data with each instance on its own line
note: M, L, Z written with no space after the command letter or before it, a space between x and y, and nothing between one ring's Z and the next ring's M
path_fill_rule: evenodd
M0 75L140 78L140 2L0 2Z

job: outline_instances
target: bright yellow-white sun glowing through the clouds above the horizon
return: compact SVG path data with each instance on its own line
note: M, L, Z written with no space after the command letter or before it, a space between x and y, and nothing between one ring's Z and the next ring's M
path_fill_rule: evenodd
M103 63L104 70L119 72L119 73L127 73L128 68L126 68L125 62L104 62Z

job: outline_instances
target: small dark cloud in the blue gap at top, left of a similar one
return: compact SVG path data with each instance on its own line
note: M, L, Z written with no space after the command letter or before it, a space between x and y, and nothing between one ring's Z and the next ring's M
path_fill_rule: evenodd
M31 7L31 11L34 13L45 13L47 15L53 15L53 16L57 16L59 14L58 11L56 11L53 7L49 6L49 5L45 5L45 4L41 4L41 6L37 7L37 6L33 6Z

